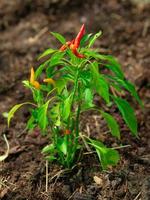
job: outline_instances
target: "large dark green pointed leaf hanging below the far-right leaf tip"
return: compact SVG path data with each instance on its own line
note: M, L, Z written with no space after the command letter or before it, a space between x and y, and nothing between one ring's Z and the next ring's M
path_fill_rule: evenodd
M137 120L133 108L126 100L120 97L113 97L113 99L117 104L123 119L125 120L127 126L130 128L132 134L137 136Z

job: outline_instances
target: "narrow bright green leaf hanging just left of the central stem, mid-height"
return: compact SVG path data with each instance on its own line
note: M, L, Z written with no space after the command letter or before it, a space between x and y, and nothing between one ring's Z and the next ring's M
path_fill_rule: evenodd
M62 118L64 121L66 121L70 115L71 102L72 102L72 94L68 96L63 102Z

